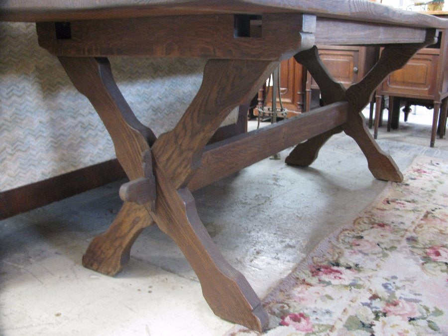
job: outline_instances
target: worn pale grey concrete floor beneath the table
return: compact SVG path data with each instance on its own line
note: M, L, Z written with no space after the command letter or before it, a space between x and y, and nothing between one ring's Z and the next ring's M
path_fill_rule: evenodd
M429 147L431 118L422 108L399 130L380 128L378 143L401 170L416 155L448 159L447 139ZM0 221L0 335L222 335L232 326L212 313L182 253L155 225L114 278L82 267L89 242L120 208L121 183ZM194 195L225 258L263 297L385 184L338 134L307 169L265 159Z

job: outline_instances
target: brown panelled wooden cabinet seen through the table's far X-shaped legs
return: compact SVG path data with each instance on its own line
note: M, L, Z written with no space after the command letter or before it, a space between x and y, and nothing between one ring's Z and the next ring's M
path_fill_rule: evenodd
M373 67L378 50L374 47L318 46L319 56L336 81L348 88L360 81ZM305 110L319 105L319 86L307 75Z

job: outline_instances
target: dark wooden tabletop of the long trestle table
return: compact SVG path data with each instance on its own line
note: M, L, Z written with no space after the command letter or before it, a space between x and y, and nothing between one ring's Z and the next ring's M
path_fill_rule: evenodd
M1 21L273 12L301 12L351 21L448 28L448 20L368 0L0 0Z

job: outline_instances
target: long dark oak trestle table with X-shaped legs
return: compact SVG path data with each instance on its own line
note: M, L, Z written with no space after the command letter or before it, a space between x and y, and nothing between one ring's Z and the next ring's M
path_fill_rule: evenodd
M308 166L341 131L357 142L375 178L402 181L360 111L388 74L448 28L447 20L367 0L2 0L0 20L36 22L39 45L95 107L129 177L120 188L124 205L83 264L115 274L141 230L155 223L185 254L214 313L258 331L268 314L215 246L191 192L293 145L286 163ZM345 89L323 66L318 44L384 50L365 78ZM156 138L138 121L113 80L112 55L208 60L201 88L171 131ZM292 56L318 83L325 106L207 145L226 115Z

